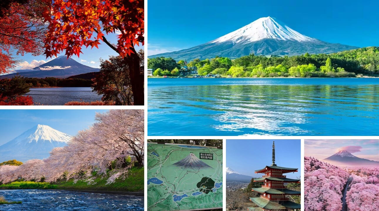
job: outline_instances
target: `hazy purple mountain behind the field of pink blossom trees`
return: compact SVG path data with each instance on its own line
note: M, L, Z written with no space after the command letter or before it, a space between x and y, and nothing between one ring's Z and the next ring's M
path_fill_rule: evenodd
M322 160L336 166L379 166L379 161L359 158L348 150L340 150L336 154Z

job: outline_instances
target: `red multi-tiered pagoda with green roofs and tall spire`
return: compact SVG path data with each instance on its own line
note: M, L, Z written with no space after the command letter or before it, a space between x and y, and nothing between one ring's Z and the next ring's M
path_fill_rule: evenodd
M285 195L300 195L301 192L286 188L284 183L299 183L300 180L286 178L285 173L297 172L297 168L285 168L275 164L275 143L273 142L273 164L255 173L265 174L262 178L254 179L254 182L264 182L261 188L252 188L252 191L260 193L260 197L250 198L250 201L258 207L248 207L249 211L267 210L296 210L301 208L298 203L291 202Z

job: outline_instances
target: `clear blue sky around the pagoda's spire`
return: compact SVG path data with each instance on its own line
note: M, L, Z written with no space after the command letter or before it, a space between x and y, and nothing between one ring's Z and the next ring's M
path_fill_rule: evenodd
M262 176L254 171L271 165L273 141L277 166L299 168L298 172L286 175L288 178L300 177L300 140L226 140L226 166L240 174Z

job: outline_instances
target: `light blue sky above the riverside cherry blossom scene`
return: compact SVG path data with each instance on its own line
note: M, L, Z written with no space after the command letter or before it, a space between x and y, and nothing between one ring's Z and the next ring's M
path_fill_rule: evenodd
M0 110L0 145L16 138L37 124L76 135L95 123L95 113L107 110Z

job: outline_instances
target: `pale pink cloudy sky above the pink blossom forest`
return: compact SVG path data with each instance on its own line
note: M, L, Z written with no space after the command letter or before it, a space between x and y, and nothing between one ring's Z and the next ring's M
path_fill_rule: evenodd
M323 160L340 150L368 160L379 161L379 140L375 139L314 139L304 140L304 156Z

